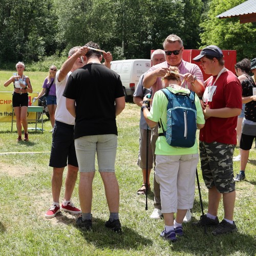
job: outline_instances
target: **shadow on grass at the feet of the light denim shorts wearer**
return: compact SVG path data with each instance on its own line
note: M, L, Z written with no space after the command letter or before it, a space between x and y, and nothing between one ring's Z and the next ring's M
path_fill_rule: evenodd
M81 231L81 234L88 243L92 243L97 248L102 250L109 248L113 249L137 249L141 246L152 246L153 241L140 236L135 230L129 227L122 226L122 232L116 233L105 227L105 221L99 218L92 219L92 231Z

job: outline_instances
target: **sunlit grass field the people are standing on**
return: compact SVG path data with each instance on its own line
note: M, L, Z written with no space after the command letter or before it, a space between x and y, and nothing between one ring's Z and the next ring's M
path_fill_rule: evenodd
M14 71L13 71L14 72ZM13 73L0 71L3 83ZM34 92L41 90L47 76L44 72L25 72L31 79ZM10 86L9 86L10 87ZM4 90L2 90L4 89ZM12 88L9 88L11 91ZM30 141L16 142L16 130L11 133L10 123L0 124L0 255L255 255L256 254L256 150L250 152L246 180L237 183L237 200L234 220L239 231L215 237L211 230L184 224L185 236L174 244L159 237L163 220L149 218L153 206L153 193L145 197L136 192L142 183L137 166L140 109L133 103L117 117L118 151L116 175L120 186L120 221L122 234L104 227L109 217L104 197L103 183L96 172L93 185L93 231L82 232L75 227L76 217L62 213L53 219L44 217L52 202L51 175L48 166L51 149L51 125L44 117L44 134L30 132ZM30 124L34 126L34 124ZM34 152L34 153L32 153ZM38 153L36 153L38 152ZM238 154L238 148L234 155ZM204 211L207 211L207 189L198 165ZM234 173L239 172L239 162L234 162ZM66 172L65 172L66 176ZM151 177L153 184L153 177ZM61 190L61 198L63 189ZM79 205L78 183L73 202ZM196 186L193 221L201 215ZM218 213L223 219L223 205Z

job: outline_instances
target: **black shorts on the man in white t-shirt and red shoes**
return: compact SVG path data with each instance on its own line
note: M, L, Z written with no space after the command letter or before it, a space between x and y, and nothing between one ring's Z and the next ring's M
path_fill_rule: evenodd
M63 168L71 164L78 167L74 144L74 125L55 120L49 166Z

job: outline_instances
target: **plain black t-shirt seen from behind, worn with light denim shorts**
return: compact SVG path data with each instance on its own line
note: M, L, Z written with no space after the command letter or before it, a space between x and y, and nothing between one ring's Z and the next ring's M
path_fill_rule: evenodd
M117 135L115 99L124 96L117 73L99 63L90 63L70 75L63 96L76 102L75 139Z

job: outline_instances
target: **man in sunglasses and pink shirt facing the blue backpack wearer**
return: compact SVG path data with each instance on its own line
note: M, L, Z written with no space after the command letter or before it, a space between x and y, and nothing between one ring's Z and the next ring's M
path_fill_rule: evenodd
M177 35L169 35L163 42L163 48L165 52L165 61L151 67L144 76L143 86L147 89L152 89L152 99L154 94L163 88L162 77L168 72L170 66L178 67L180 74L184 75L181 78L182 87L188 88L190 91L196 92L200 97L203 95L204 86L203 86L203 74L200 68L193 64L189 63L182 59L182 52L184 50L183 42L181 38ZM156 132L158 131L158 125L154 128L152 132L153 136L151 137L151 146L155 148L155 143L158 137ZM159 219L162 216L161 212L161 198L160 198L160 186L156 182L154 175L154 210L152 212L152 219ZM187 214L184 218L184 222L191 220L191 212L188 209Z

